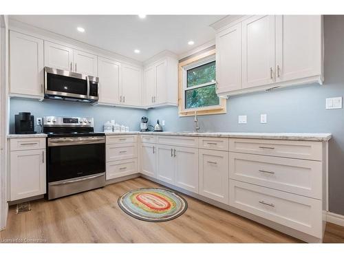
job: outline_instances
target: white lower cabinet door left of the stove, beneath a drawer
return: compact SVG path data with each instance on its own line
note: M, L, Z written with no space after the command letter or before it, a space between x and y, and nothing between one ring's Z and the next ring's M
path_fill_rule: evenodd
M11 151L10 200L45 193L45 150Z

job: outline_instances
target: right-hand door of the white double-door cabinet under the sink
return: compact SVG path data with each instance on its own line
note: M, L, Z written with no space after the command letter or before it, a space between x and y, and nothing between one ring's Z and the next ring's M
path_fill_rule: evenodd
M175 153L175 185L198 193L198 149L178 147Z

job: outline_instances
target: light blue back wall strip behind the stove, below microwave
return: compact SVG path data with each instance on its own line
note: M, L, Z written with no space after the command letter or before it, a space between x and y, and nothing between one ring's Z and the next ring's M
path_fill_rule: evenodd
M10 133L14 133L14 114L21 111L31 112L35 120L42 116L90 116L94 118L95 131L103 131L103 125L109 120L116 120L120 125L127 125L130 131L138 131L142 116L147 114L142 109L127 109L109 106L92 106L87 103L72 103L61 100L32 100L28 98L11 98ZM40 131L40 127L36 127Z

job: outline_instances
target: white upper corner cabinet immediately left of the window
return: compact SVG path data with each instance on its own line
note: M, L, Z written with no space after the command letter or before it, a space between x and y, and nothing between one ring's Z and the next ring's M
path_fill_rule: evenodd
M178 60L166 56L144 68L144 105L178 105Z

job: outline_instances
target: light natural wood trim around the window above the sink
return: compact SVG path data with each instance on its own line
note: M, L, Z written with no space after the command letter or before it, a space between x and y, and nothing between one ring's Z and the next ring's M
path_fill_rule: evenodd
M226 114L227 112L227 101L226 98L219 98L219 105L211 106L211 107L200 107L197 109L185 109L184 107L184 89L183 89L183 73L184 67L189 66L192 63L200 61L203 58L207 58L209 56L213 56L215 54L215 50L209 50L202 54L198 54L197 56L193 56L191 58L182 61L178 65L178 114L179 116L194 116L195 111L197 111L197 115L213 115L213 114Z

